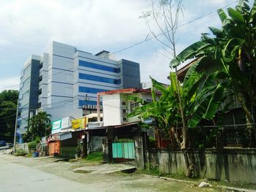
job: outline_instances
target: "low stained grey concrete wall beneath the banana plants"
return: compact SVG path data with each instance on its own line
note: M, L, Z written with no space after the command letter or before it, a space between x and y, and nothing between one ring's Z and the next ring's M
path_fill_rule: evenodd
M146 150L145 155L146 164L158 166L160 172L187 174L184 151ZM256 149L190 150L187 157L197 177L256 183Z

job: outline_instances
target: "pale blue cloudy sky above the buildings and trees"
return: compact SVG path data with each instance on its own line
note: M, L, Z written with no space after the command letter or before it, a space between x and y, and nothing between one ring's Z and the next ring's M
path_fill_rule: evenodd
M182 26L176 33L177 53L200 40L201 33L209 33L208 26L221 27L217 9L236 4L234 0L184 0L178 21ZM160 34L154 20L140 18L150 10L151 0L1 0L0 91L18 89L26 59L47 53L52 41L93 54L108 50L113 58L140 63L141 82L150 81L151 76L168 83L170 50L151 39L148 26ZM145 39L151 40L143 42ZM138 42L143 43L136 45Z

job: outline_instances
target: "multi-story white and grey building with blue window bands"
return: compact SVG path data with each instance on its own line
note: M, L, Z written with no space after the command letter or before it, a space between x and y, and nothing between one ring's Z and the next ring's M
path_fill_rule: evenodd
M18 133L26 131L37 109L53 120L78 118L96 112L98 92L120 88L140 88L140 64L110 59L105 50L93 55L53 42L48 53L32 55L21 72Z

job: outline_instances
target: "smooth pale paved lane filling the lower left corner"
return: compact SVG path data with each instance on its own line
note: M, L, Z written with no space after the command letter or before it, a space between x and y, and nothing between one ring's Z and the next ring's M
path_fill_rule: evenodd
M29 192L29 191L94 191L54 174L42 172L29 166L4 161L0 158L0 191Z

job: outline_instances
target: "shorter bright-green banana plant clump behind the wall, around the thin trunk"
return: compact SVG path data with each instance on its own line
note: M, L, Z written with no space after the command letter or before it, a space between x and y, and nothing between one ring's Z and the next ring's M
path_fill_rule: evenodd
M187 72L182 86L179 85L180 82L176 82L177 78L174 72L170 72L170 86L167 88L151 78L153 101L148 103L130 96L129 99L140 101L143 106L135 108L129 116L140 115L143 119L154 118L157 129L167 130L170 139L176 141L173 146L182 148L180 137L175 131L176 128L182 126L178 89L180 89L179 93L181 93L181 102L184 107L184 118L189 128L195 128L202 119L211 120L214 118L221 101L224 99L226 82L214 83L220 74L214 73L206 77L205 72L197 72L196 70L198 64L205 59L200 58L195 61L195 64ZM155 99L156 91L161 93L159 100Z

